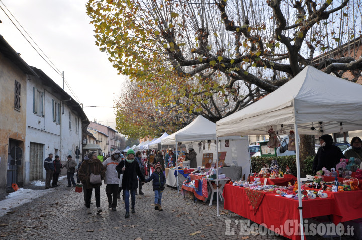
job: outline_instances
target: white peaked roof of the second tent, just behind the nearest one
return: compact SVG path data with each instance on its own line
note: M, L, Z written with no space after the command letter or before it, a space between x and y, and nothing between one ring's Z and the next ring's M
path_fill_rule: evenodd
M197 141L216 139L215 123L199 115L188 126L161 140L162 145L175 144L175 141Z

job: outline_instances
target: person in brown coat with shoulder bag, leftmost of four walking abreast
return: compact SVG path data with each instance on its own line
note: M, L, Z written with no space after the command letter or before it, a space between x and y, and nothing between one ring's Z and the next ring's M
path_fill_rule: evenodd
M91 183L91 174L100 175L100 183ZM83 188L86 188L86 207L88 214L91 214L91 198L92 190L95 189L97 214L102 212L101 209L101 185L105 176L105 168L100 160L97 159L97 152L91 151L88 154L88 160L85 160L79 169L79 179L83 183Z

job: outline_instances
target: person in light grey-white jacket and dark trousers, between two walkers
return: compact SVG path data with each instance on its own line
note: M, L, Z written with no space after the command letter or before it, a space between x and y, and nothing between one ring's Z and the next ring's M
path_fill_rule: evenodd
M121 151L116 150L113 152L111 157L103 161L103 166L106 168L104 183L106 186L106 194L108 198L108 208L112 208L112 211L116 211L117 207L117 195L118 195L118 173L116 166L121 161ZM123 161L123 160L122 160Z

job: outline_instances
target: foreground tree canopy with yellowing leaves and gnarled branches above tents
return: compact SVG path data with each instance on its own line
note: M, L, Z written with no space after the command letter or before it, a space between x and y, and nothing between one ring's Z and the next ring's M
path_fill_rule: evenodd
M89 0L87 14L96 45L158 111L149 121L167 113L182 124L230 115L307 65L340 77L352 70L355 81L360 2Z

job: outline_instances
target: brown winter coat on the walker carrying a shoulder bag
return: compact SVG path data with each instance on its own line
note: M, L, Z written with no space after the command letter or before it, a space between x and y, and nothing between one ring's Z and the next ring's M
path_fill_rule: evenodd
M103 167L101 161L98 159L96 160L85 160L82 162L82 165L80 165L80 169L78 171L79 179L83 183L83 187L85 189L94 188L101 186L102 183L99 184L91 184L91 173L98 175L101 175L101 180L104 179L105 176L105 168Z

